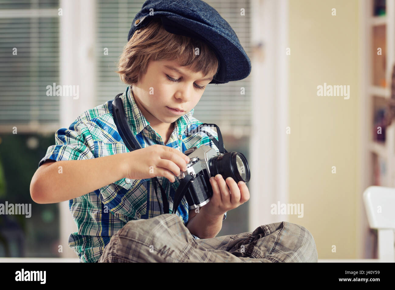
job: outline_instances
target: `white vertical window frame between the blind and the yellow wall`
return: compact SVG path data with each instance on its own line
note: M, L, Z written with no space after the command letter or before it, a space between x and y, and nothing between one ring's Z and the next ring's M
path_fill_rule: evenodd
M252 0L252 126L249 231L288 221L271 204L289 200L288 0ZM262 47L258 46L262 44Z

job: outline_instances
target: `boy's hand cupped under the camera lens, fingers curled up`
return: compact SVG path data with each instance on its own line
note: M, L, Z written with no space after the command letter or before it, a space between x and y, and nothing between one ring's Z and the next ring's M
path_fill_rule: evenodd
M213 196L204 206L206 213L224 215L226 211L233 210L250 199L250 191L243 181L236 183L231 177L224 180L221 174L217 174L215 178L210 178L210 183Z

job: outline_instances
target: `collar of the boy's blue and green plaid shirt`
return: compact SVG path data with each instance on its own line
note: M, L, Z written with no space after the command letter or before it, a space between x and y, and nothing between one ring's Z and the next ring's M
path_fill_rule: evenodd
M122 99L122 103L124 104L126 119L128 120L128 124L132 129L133 134L137 135L141 131L143 131L143 129L147 129L148 131L154 131L139 107L137 107L131 90L131 86L128 86L123 95L120 96L120 98ZM182 133L184 133L185 129L187 128L188 124L192 119L193 113L194 109L190 110L187 114L182 115L175 121L174 129L178 132L178 135L182 135Z

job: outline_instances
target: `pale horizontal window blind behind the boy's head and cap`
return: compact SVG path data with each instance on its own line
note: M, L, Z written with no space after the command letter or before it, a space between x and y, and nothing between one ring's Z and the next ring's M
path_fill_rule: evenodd
M248 56L251 52L250 43L250 1L206 1L229 22L239 37L240 43ZM127 36L136 13L141 9L143 1L112 1L99 0L97 3L97 43L98 90L96 105L114 99L115 95L124 92L126 84L122 83L116 62L127 43ZM241 9L245 9L245 16ZM108 55L104 55L104 49ZM241 94L241 87L245 94ZM198 105L194 109L194 117L204 123L215 123L221 128L222 134L232 133L236 128L237 135L249 134L250 130L250 77L227 84L209 84ZM222 129L224 127L224 129ZM230 128L226 129L226 128Z

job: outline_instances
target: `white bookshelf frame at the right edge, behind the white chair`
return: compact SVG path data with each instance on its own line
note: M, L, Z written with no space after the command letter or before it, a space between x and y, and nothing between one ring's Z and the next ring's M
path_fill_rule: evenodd
M391 74L392 67L395 63L395 1L386 1L386 15L373 16L372 11L374 7L373 0L359 1L359 47L361 50L360 54L360 65L359 71L360 82L360 93L361 93L361 168L360 168L360 191L363 193L365 189L372 185L371 181L374 177L375 164L371 158L372 153L378 155L380 162L385 161L386 174L380 174L380 182L382 186L395 187L395 122L390 126L386 127L386 142L372 141L371 140L371 129L372 120L374 120L373 96L390 98L391 97ZM381 86L373 86L373 61L377 61L375 58L374 39L372 33L374 27L385 25L386 26L386 83L387 88ZM379 160L378 160L379 161ZM382 163L381 163L382 164ZM378 164L380 166L380 163ZM381 168L380 168L381 169ZM359 225L357 228L357 235L360 241L362 241L357 247L357 253L359 257L371 256L374 244L371 241L371 237L367 234L367 228L369 223L367 222L366 211L364 208L362 198L359 198Z

